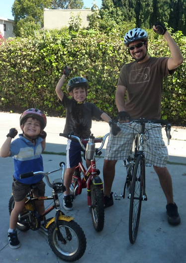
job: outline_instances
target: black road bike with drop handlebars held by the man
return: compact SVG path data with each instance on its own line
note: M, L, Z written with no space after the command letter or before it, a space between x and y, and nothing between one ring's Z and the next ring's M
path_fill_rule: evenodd
M131 126L132 123L135 123L135 125ZM148 129L145 128L146 123L149 123L152 127ZM137 130L136 125L138 124L140 124L140 131ZM145 167L151 166L150 164L145 164L144 141L149 139L148 131L150 129L160 129L165 127L169 145L171 138L171 125L167 120L146 120L141 118L138 120L132 120L129 123L122 123L122 125L126 125L127 127L133 129L134 142L128 158L123 162L123 166L127 169L123 195L115 193L114 197L116 200L121 197L124 198L125 190L129 189L129 240L131 244L134 244L138 233L142 201L147 201L145 188Z

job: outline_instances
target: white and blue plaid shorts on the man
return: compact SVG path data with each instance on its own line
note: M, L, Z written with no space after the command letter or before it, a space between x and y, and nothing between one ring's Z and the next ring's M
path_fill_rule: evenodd
M125 160L130 154L132 144L134 141L134 136L137 133L133 130L133 127L140 131L140 124L132 123L129 125L117 124L121 131L113 136L109 135L108 143L105 151L105 160ZM167 147L162 138L162 127L151 129L152 126L146 123L145 129L145 141L144 141L144 153L145 162L152 164L157 167L166 167L167 161L169 159ZM150 129L150 130L148 130Z

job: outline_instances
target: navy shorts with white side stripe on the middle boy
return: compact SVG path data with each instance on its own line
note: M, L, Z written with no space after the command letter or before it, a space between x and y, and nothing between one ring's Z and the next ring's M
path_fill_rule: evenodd
M86 146L85 146L86 147ZM82 162L81 151L83 151L79 142L67 141L67 168L78 166Z

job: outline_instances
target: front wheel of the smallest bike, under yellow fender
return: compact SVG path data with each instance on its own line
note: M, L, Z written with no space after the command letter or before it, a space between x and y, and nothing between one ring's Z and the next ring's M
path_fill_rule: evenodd
M87 247L84 231L75 221L59 220L58 224L65 242L58 240L56 224L53 222L48 230L48 241L52 251L64 261L79 260Z

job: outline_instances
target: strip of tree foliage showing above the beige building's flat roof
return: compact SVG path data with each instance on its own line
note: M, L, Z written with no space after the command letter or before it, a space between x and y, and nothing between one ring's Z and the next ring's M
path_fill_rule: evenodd
M52 0L52 9L82 9L83 0Z

